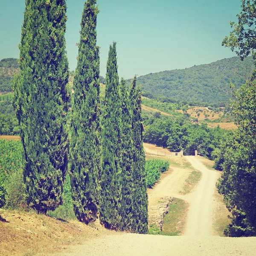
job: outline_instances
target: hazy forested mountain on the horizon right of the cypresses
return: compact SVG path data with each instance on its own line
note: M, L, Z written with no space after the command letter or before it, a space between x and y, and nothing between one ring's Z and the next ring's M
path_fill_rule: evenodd
M184 102L207 102L221 104L229 102L230 79L238 88L250 78L253 58L241 61L239 57L225 58L210 64L189 67L183 70L170 70L150 73L138 77L143 95L162 95Z

